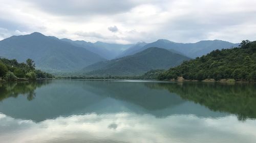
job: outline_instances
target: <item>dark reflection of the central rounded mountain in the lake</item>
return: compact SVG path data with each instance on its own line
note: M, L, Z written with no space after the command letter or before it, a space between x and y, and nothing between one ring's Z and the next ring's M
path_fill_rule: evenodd
M83 88L102 97L110 97L139 105L146 110L159 110L185 102L167 90L148 89L142 82L83 82ZM155 83L150 83L155 84Z

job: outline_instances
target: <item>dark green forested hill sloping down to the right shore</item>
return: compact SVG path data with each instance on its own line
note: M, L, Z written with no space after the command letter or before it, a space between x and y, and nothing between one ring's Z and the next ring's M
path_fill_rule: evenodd
M239 47L214 50L195 60L185 61L158 76L160 80L182 76L190 80L207 78L256 80L256 41L242 41Z

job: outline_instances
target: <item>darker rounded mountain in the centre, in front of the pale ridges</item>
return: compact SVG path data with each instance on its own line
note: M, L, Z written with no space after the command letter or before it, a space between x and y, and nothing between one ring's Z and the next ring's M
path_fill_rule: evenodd
M83 69L87 75L130 76L141 75L149 70L169 69L189 60L184 55L172 51L150 47L133 55L111 61L103 61Z

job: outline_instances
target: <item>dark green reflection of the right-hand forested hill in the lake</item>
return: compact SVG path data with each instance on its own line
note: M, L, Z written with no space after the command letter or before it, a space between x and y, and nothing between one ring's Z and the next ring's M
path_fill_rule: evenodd
M236 114L240 121L256 119L255 84L157 83L153 89L166 89L185 100L194 101L214 111Z

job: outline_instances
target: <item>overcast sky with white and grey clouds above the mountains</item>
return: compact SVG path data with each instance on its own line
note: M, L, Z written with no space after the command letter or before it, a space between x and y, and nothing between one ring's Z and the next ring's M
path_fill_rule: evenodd
M255 0L0 0L0 40L47 36L131 44L256 40Z

